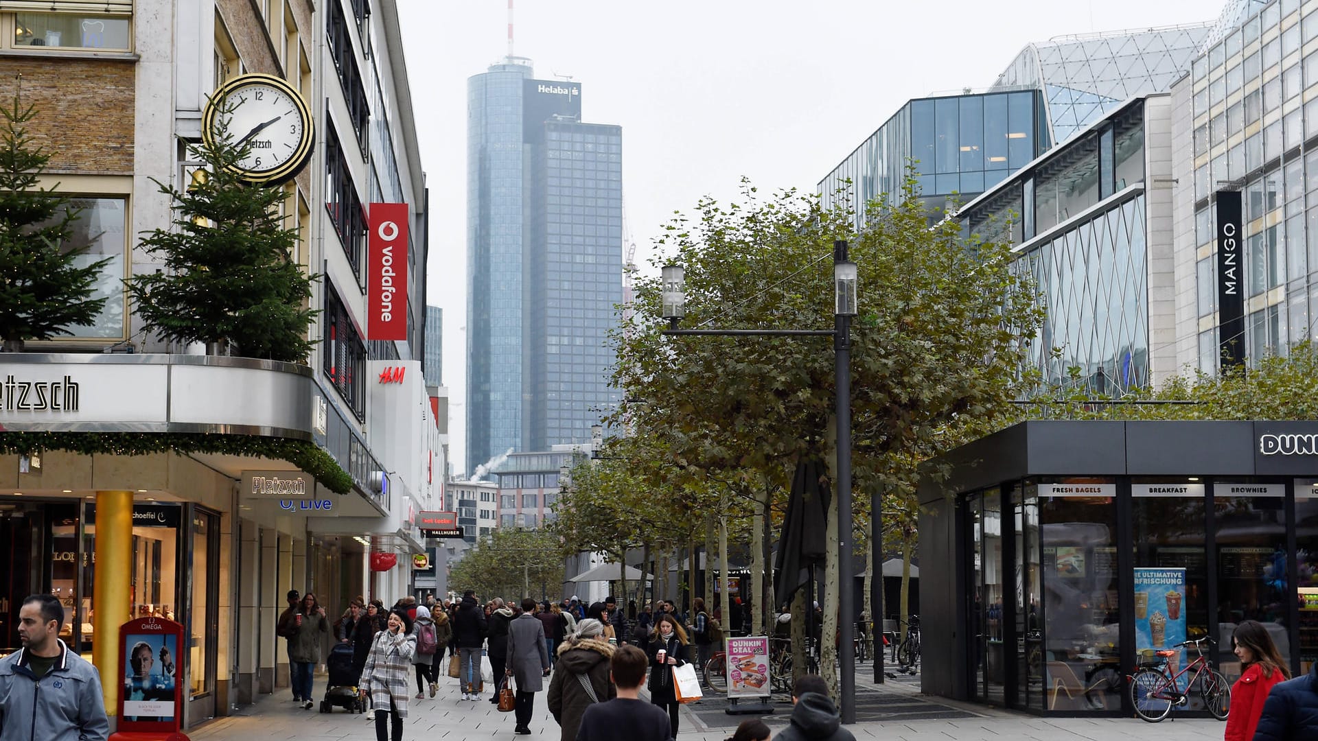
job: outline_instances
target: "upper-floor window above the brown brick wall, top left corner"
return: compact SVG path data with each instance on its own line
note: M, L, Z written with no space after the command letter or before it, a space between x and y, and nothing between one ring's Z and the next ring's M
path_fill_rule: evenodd
M70 0L4 3L0 28L12 28L0 47L11 49L132 49L132 0ZM9 24L13 24L12 26Z

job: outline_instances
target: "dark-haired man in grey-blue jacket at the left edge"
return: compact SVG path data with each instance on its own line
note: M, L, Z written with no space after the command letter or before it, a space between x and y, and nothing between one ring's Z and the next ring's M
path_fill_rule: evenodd
M105 741L109 719L96 667L59 639L65 608L32 595L18 610L22 649L0 661L0 738Z

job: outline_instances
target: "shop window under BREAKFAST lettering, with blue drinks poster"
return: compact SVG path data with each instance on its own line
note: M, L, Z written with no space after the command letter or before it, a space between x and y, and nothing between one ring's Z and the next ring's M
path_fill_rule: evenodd
M1135 658L1176 650L1176 670L1190 658L1177 643L1210 636L1203 484L1185 479L1131 485L1135 535ZM1215 637L1214 637L1215 638ZM1195 695L1190 709L1197 708Z

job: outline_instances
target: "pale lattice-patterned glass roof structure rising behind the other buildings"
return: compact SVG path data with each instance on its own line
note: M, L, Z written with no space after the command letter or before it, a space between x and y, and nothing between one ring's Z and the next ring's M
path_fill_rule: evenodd
M1041 91L1048 136L1066 141L1124 100L1166 92L1190 69L1211 30L1210 24L1194 24L1031 44L998 75L992 90Z

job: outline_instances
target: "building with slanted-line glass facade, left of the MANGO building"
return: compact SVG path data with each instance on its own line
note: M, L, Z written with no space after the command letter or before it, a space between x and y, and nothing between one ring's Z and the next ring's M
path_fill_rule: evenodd
M1169 99L1136 99L1021 169L957 215L967 235L1006 240L1045 310L1029 343L1045 381L1072 368L1101 393L1153 380L1151 327L1170 330L1170 277L1151 235L1169 235ZM1162 303L1155 309L1151 297ZM1155 319L1156 315L1156 319Z

